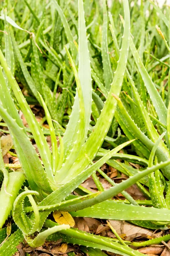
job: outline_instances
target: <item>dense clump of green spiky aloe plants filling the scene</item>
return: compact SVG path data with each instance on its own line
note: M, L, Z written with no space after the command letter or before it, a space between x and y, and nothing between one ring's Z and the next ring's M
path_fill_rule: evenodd
M0 15L0 116L21 168L14 171L0 155L0 255L14 255L24 239L33 248L46 239L62 239L92 247L93 252L142 256L118 235L109 239L58 224L50 213L168 228L167 14L152 1L141 1L140 6L136 1L134 6L132 1L113 1L109 7L106 0L20 0L12 6L12 0L5 1ZM44 109L49 129L37 122L31 104ZM129 178L115 183L100 169L105 163ZM110 189L103 188L96 172L111 183ZM90 176L96 193L82 189ZM135 183L147 200L135 201L125 191ZM71 194L74 191L77 196ZM120 192L125 202L111 200ZM12 227L6 227L9 218ZM169 235L132 245L168 239Z

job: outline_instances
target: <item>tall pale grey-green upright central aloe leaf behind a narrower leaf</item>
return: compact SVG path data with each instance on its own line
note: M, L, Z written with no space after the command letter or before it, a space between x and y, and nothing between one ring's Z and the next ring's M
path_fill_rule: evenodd
M91 120L91 102L92 102L92 89L91 89L91 67L88 51L88 42L86 38L85 18L83 2L79 0L79 79L82 87L82 94L85 103L85 138L87 136L89 123ZM73 143L77 138L79 121L79 99L78 92L74 99L71 116L65 131L63 142L65 148L65 157L68 156ZM71 134L71 136L70 136Z

